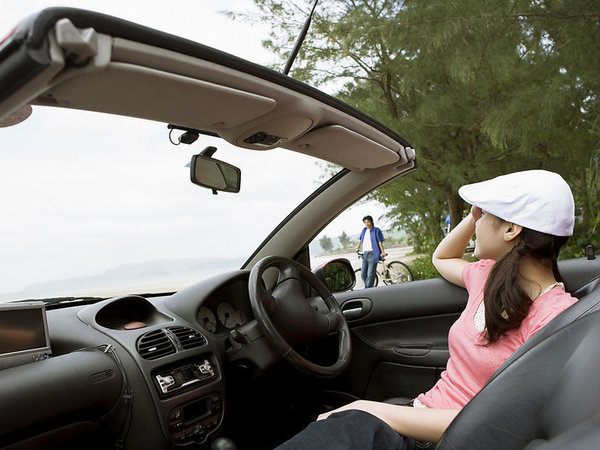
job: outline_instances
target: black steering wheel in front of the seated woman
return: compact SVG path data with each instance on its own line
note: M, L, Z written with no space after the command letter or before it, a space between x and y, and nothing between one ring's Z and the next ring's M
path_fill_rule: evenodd
M271 268L279 271L279 277L269 292L262 276ZM302 280L323 299L328 309L326 313L316 311L309 304ZM252 268L248 286L250 304L260 330L294 367L310 375L332 377L348 366L352 347L346 319L327 286L308 268L289 258L267 256ZM330 366L313 363L292 348L291 344L307 344L334 332L339 336L338 356Z

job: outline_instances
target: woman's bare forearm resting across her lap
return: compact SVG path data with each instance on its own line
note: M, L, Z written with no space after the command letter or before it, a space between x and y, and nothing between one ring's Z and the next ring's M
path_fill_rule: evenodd
M389 403L358 400L334 411L321 414L317 420L323 420L330 414L358 409L383 420L395 431L408 438L419 441L437 442L460 412L458 409L411 408Z

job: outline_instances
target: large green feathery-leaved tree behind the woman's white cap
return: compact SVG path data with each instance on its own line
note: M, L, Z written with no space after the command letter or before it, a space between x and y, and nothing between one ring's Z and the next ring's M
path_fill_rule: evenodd
M273 29L265 45L285 61L313 0L255 2ZM322 2L291 75L416 148L418 170L372 197L420 250L439 240L446 214L460 221L459 186L533 168L565 177L578 226L597 241L599 19L592 0Z

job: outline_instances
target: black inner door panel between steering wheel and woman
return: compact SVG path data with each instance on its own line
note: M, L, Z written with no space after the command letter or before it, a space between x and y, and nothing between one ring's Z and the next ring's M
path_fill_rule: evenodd
M465 307L462 288L440 278L338 294L352 330L350 392L384 400L435 384L448 360L448 331Z

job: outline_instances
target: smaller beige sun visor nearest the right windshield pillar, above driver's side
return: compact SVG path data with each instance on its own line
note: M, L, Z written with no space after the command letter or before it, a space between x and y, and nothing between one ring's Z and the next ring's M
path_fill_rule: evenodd
M400 161L396 151L341 125L311 131L286 148L354 170L375 169Z

